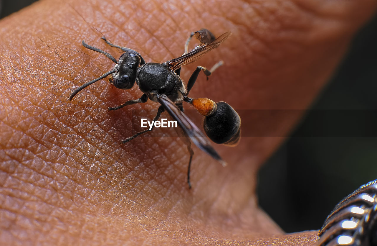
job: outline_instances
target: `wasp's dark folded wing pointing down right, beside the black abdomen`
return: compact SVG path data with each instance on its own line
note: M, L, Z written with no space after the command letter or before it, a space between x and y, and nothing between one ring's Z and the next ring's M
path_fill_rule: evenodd
M199 130L199 128L190 120L187 115L178 109L178 107L173 103L166 95L157 94L157 100L165 108L165 110L172 115L172 117L177 121L182 130L190 137L191 141L195 143L202 151L206 152L215 160L218 160L223 166L226 165L220 155L211 146L207 137Z

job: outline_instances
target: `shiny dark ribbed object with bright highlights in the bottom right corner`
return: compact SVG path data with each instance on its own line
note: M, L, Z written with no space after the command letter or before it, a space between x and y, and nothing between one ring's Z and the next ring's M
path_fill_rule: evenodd
M336 205L318 234L318 245L377 245L377 180Z

